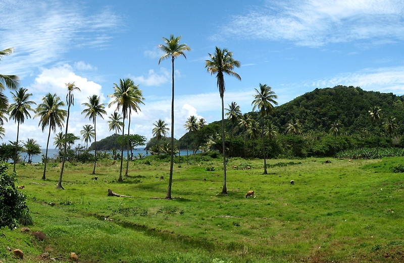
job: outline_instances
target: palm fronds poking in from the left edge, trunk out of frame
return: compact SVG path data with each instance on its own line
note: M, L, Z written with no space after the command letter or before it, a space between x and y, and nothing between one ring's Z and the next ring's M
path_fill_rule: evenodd
M0 51L0 60L3 56L11 55L14 48L7 48ZM5 114L8 112L9 100L3 91L7 88L10 90L17 90L20 85L20 80L15 75L2 75L0 74L0 124L3 124L4 119L7 120Z

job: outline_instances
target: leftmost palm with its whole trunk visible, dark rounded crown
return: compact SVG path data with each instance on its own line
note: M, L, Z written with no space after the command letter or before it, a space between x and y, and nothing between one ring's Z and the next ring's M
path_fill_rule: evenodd
M10 105L10 118L14 119L17 122L17 141L16 141L16 150L14 153L14 168L13 172L16 171L16 163L17 163L17 151L18 151L18 136L20 133L20 123L24 123L25 118L30 118L31 115L29 111L32 110L31 105L36 104L33 101L28 100L29 97L32 96L31 93L27 93L27 89L20 88L13 95L14 103Z

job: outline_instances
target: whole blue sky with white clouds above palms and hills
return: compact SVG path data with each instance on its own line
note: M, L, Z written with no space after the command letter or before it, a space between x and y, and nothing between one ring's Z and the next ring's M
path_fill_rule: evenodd
M65 83L75 82L81 92L69 132L76 136L90 124L81 103L93 94L109 103L113 84L123 78L138 84L145 97L141 112L132 115L131 134L150 139L159 118L170 125L171 61L158 64L157 46L171 34L191 48L186 59L175 60L177 139L190 115L208 122L221 118L216 78L205 69L215 46L241 63L235 69L241 81L225 76L224 99L243 113L252 110L260 83L272 87L279 104L336 85L404 94L402 1L2 0L0 10L0 49L15 49L0 61L0 73L18 75L37 103L48 92L64 100ZM107 107L105 120L97 119L97 138L113 133L107 120L114 110ZM38 121L21 124L20 139L44 147L47 134ZM15 141L14 121L4 127L3 142Z

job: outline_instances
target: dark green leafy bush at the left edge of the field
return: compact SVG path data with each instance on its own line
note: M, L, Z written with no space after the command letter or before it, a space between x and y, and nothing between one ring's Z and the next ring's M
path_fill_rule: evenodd
M8 168L7 163L0 163L0 228L13 229L28 208L25 195L15 186L16 173L7 174Z

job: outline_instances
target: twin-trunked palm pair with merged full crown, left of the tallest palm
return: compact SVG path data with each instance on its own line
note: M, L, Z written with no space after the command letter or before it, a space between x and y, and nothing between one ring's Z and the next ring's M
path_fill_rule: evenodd
M119 85L114 83L114 93L108 95L108 97L114 98L114 100L108 105L111 107L113 104L117 104L117 110L122 108L122 146L121 146L121 167L119 171L119 182L122 182L122 166L123 166L123 148L124 148L124 129L125 129L125 119L128 118L128 138L129 138L129 128L130 128L130 113L132 109L137 112L140 110L139 103L143 103L144 98L142 97L142 91L139 90L139 86L135 85L131 79L121 79L119 81ZM129 167L129 140L127 146L127 164L126 164L126 174L128 175L128 167Z

